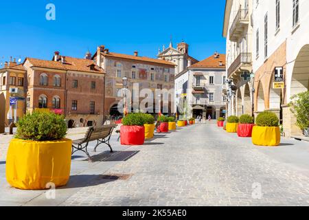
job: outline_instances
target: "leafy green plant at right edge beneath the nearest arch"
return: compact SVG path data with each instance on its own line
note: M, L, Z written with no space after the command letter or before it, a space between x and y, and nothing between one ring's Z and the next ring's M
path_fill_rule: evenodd
M309 91L292 96L290 109L296 117L296 125L308 137L309 127Z

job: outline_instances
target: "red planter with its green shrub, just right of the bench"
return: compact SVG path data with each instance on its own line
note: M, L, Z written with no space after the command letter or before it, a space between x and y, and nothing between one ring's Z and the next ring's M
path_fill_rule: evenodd
M120 143L122 145L142 145L145 142L145 114L128 113L122 118Z

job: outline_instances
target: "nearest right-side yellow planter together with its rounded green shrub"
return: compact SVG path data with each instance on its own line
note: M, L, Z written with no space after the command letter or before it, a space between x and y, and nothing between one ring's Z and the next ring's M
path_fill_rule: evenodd
M279 119L271 111L258 114L253 126L252 142L258 146L278 146L280 144Z

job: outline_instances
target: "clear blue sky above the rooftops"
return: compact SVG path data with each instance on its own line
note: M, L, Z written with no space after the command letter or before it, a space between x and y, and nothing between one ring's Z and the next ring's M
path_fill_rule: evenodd
M47 21L47 3L56 21ZM51 59L54 51L83 57L98 45L111 52L155 57L158 48L183 39L190 55L203 60L225 53L225 0L1 1L0 61L10 56Z

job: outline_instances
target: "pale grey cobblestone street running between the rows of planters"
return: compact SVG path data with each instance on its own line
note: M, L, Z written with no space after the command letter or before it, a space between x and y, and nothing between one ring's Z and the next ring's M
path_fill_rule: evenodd
M213 124L196 124L127 148L139 153L104 175L128 179L98 175L61 205L308 206L308 164L300 168L282 155L309 155L308 143L295 143L260 148Z

